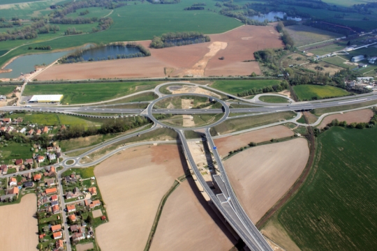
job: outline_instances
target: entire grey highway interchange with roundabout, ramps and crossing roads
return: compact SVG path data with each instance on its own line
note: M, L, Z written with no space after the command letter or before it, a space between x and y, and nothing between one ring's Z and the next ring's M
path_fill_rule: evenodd
M212 136L209 132L209 129L213 126L218 125L219 123L222 123L226 119L232 119L237 118L235 117L229 117L230 112L232 113L239 113L239 114L245 114L244 116L254 116L256 114L260 113L273 113L273 112L284 112L284 111L306 111L316 108L325 108L325 107L338 107L342 105L352 105L352 104L358 104L362 102L370 102L370 101L376 101L377 103L377 93L367 93L362 94L358 96L347 96L342 98L332 98L329 100L321 100L321 101L311 101L311 102L290 102L288 103L282 103L282 104L269 104L265 102L261 102L258 100L258 97L255 97L251 100L245 99L245 98L237 98L235 96L232 96L229 93L224 93L222 91L212 89L209 86L203 86L205 89L209 91L214 91L215 93L221 93L224 96L228 96L228 98L234 98L234 100L221 100L219 98L213 97L213 96L207 96L204 94L197 94L197 93L184 93L184 94L163 94L160 92L160 89L162 86L165 85L171 85L171 84L187 84L195 86L197 84L190 84L190 83L182 83L182 82L168 82L164 84L160 84L156 86L156 89L154 89L154 92L158 95L159 98L156 100L153 100L151 102L148 102L147 109L122 109L122 108L116 108L114 106L117 105L105 105L102 102L98 103L92 103L90 105L77 105L75 107L73 106L64 106L64 105L28 105L28 107L20 107L20 106L12 106L12 107L1 107L0 110L2 111L27 111L27 112L58 112L58 113L64 113L64 114L80 114L80 116L101 116L101 113L103 114L124 114L125 116L128 116L128 114L136 114L138 116L146 116L151 121L154 122L154 126L152 126L149 129L142 130L140 132L134 132L129 135L123 136L123 137L117 137L115 139L112 139L108 142L105 142L104 144L98 144L94 148L90 149L89 151L82 153L81 155L73 158L67 158L65 157L64 161L61 162L61 166L63 167L63 170L61 170L58 174L59 179L61 178L61 174L68 168L71 167L89 167L98 164L99 162L102 162L106 158L109 158L114 153L117 153L119 151L123 151L124 149L133 147L133 146L140 146L143 144L153 144L153 143L165 143L165 142L138 142L135 144L128 144L126 146L120 146L118 149L115 149L114 151L111 151L110 153L103 155L98 160L95 160L93 162L87 162L82 163L82 158L87 157L87 155L94 153L98 151L99 149L103 149L104 147L110 146L115 143L119 143L123 141L124 139L128 139L131 137L136 137L142 133L151 132L155 130L156 128L166 127L171 128L172 130L175 130L177 134L179 135L180 142L182 144L182 147L184 149L184 153L186 155L186 158L188 160L188 163L191 166L191 169L193 170L193 173L198 179L198 182L200 185L202 185L203 190L207 193L209 198L211 199L211 202L216 206L216 208L219 209L220 213L223 215L223 217L226 219L226 221L232 226L233 229L237 232L237 234L242 238L244 243L251 249L251 250L272 250L272 248L269 247L267 241L265 241L265 238L263 238L262 234L258 231L255 225L253 225L253 222L251 222L248 215L246 215L244 209L239 204L239 201L235 195L235 192L232 190L232 185L230 184L230 181L228 179L228 176L226 174L226 169L223 167L223 163L221 160L221 157L216 149L216 146L214 144L214 141L212 139ZM145 91L143 91L145 92ZM134 96L138 93L133 93L131 96ZM163 100L164 98L170 98L175 96L184 96L189 94L190 96L199 96L199 97L206 97L211 98L212 100L215 100L216 102L220 102L221 105L223 105L222 109L166 109L166 108L156 108L155 105L158 101ZM270 94L267 94L270 95ZM126 96L127 97L127 96ZM123 97L125 98L125 97ZM237 99L235 99L237 98ZM119 98L118 98L119 99ZM141 103L141 102L140 102ZM145 102L143 102L145 103ZM242 105L250 105L250 107L247 108L230 108L229 105L232 103L236 104L242 104ZM128 104L128 103L127 103ZM84 113L97 113L97 115L94 114L84 114ZM175 126L166 125L164 123L161 123L161 121L158 121L154 114L223 114L221 119L218 121L212 123L209 126L200 126L197 128L180 128ZM300 113L298 114L300 115ZM300 118L298 116L293 119L293 121ZM240 115L242 116L242 115ZM269 125L272 126L272 125ZM207 142L209 145L209 149L211 149L214 159L216 162L216 165L220 172L220 179L217 178L219 187L222 188L222 194L221 195L215 195L214 192L209 188L209 185L207 185L207 182L204 180L202 175L200 174L200 171L198 167L195 164L195 161L193 160L193 156L191 155L191 152L188 148L187 140L184 135L184 130L197 130L200 134L202 134L202 138ZM40 168L41 169L41 168ZM33 169L31 171L36 171L36 169ZM21 174L21 173L20 173ZM216 181L216 179L215 179ZM59 190L61 190L60 195L63 195L61 185L59 185ZM64 208L64 199L61 197L62 206ZM65 215L64 215L65 216ZM65 218L65 217L64 217ZM66 222L65 229L68 229L68 225ZM68 234L68 230L66 230L66 235ZM68 250L71 250L71 245L69 245L69 238L67 238L67 247Z

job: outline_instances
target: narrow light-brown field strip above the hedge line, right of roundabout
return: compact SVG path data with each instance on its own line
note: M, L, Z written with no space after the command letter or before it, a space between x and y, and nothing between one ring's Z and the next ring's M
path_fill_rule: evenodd
M240 135L214 139L214 143L219 149L220 155L225 156L230 151L246 146L250 142L260 143L270 139L280 139L282 137L290 137L293 135L295 135L295 133L285 126L273 126L261 130L242 133Z

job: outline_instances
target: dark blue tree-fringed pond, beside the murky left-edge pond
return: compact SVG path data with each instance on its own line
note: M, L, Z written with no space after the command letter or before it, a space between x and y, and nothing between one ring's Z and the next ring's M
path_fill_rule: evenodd
M121 46L104 46L104 47L94 47L89 50L84 50L82 52L82 58L84 61L107 60L110 58L117 59L119 55L131 55L137 54L140 50L137 47L121 47Z

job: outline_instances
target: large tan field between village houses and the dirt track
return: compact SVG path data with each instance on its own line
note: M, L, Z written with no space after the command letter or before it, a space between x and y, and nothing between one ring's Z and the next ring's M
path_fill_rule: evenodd
M177 145L139 146L94 169L109 218L96 229L101 250L145 248L161 198L187 168L181 157Z

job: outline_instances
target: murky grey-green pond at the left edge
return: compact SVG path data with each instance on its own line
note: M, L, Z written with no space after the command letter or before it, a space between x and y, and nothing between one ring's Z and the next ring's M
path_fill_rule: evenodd
M86 47L89 47L89 45L85 46L84 48ZM70 54L74 51L75 50L48 52L17 57L17 59L13 60L4 68L12 69L12 71L9 73L0 73L0 78L17 78L22 74L31 73L35 70L34 66L43 65L43 63L48 66L50 63L57 61L62 56Z

